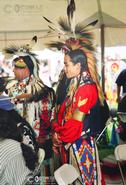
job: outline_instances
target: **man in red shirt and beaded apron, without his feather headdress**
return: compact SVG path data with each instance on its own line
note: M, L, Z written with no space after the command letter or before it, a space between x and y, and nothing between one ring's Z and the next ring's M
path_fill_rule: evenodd
M71 81L53 123L53 149L61 152L63 163L79 167L82 184L97 184L95 142L85 125L86 116L98 100L97 86L82 50L65 54L64 64L65 74Z

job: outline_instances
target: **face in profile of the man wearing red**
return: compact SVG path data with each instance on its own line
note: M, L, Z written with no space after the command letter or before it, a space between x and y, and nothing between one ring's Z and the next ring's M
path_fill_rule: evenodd
M64 65L67 78L73 78L80 74L80 63L73 64L69 55L65 55Z

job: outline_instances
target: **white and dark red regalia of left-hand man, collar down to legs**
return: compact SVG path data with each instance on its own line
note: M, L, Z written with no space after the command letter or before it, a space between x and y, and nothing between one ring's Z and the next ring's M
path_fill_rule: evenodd
M32 83L32 77L30 80L24 79L20 82L17 81L17 83L8 89L9 96L16 97L17 95L23 93L30 93ZM17 101L15 104L16 110L20 113L20 115L26 118L35 131L36 140L38 141L39 146L45 150L46 158L41 166L41 173L45 176L45 179L43 179L45 185L48 184L48 182L45 182L46 178L48 176L52 176L54 173L52 152L50 151L52 140L50 132L51 113L54 106L54 97L54 90L44 86L40 92L37 92L37 95L34 94L31 98Z

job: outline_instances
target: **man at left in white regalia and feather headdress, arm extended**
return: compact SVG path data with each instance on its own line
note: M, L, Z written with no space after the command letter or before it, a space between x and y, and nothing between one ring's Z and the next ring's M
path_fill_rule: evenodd
M50 137L51 111L55 93L39 77L39 61L28 46L5 48L13 55L15 79L7 84L8 94L16 110L31 124L37 140L44 144Z

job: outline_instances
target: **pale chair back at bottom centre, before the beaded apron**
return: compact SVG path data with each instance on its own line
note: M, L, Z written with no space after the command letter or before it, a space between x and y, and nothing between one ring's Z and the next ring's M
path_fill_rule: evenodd
M68 185L76 181L79 174L71 164L64 164L54 172L54 177L58 185Z

